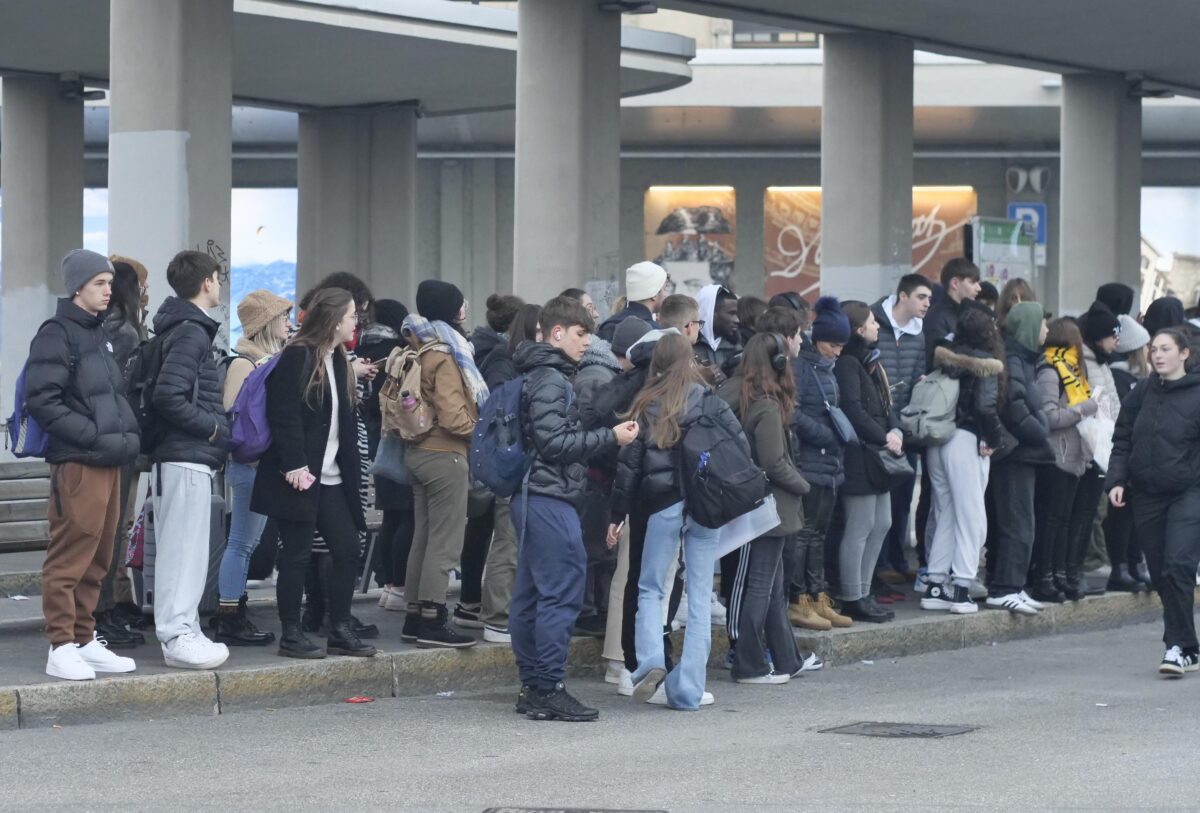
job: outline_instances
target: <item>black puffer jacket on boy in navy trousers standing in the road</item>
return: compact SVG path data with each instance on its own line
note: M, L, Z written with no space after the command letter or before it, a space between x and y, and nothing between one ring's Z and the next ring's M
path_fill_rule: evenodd
M584 466L617 440L611 427L583 429L574 397L568 408L575 362L562 350L541 342L524 342L514 361L524 375L521 423L528 448L534 451L529 493L578 506L587 477Z

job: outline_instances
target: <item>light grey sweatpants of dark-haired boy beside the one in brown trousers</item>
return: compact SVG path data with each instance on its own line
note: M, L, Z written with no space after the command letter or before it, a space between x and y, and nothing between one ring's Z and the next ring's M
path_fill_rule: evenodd
M200 598L209 576L212 474L160 463L154 488L154 626L163 644L200 632Z

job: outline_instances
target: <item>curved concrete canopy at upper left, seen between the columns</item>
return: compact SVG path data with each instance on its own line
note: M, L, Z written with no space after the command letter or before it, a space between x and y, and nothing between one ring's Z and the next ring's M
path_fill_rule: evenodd
M150 1L150 0L148 0ZM234 97L290 109L512 107L516 13L446 0L235 0ZM108 82L108 0L0 0L0 74ZM622 94L691 78L694 43L625 29Z

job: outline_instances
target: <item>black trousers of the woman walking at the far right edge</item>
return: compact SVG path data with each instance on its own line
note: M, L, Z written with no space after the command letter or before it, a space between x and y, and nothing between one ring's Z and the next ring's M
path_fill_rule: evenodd
M1133 514L1150 578L1163 600L1163 643L1195 650L1200 488L1171 495L1139 492Z

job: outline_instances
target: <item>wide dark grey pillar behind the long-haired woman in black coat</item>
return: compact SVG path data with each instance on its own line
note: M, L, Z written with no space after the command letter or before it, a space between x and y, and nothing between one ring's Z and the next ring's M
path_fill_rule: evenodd
M416 110L300 114L296 296L348 271L378 299L416 290Z

